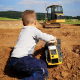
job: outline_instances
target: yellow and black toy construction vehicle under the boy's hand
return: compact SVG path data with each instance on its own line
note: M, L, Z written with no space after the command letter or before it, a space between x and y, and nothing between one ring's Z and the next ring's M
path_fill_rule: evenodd
M45 56L48 65L63 63L63 55L60 51L60 39L57 39L57 44L53 44L52 42L45 44Z

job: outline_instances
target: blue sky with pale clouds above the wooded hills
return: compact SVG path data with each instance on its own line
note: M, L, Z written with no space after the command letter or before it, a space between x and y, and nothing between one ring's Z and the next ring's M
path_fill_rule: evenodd
M80 16L80 0L0 0L0 11L46 12L50 5L61 5L66 16Z

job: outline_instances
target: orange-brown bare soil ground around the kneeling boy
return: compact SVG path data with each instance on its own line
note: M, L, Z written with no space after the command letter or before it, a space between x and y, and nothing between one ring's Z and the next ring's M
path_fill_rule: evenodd
M0 21L0 80L22 77L8 65L22 27L22 21ZM80 80L80 26L62 24L61 28L42 28L37 23L37 28L61 39L64 61L57 66L48 66L48 80ZM39 41L35 47L34 56L38 59L44 59L44 45L44 41Z

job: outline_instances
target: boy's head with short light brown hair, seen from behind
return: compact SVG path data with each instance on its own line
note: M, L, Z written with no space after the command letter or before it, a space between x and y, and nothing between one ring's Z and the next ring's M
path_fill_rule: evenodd
M36 13L34 10L26 10L22 13L22 21L24 26L33 24L34 20L36 20Z

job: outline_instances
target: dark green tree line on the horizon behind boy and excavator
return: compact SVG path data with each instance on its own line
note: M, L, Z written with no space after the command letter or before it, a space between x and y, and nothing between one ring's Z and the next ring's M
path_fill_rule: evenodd
M20 19L21 14L23 12L20 11L0 11L0 17L7 17L12 19ZM45 19L45 13L36 13L37 20L44 20ZM80 16L65 16L65 19L78 19L80 20Z

